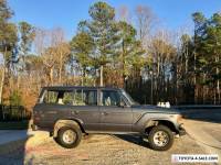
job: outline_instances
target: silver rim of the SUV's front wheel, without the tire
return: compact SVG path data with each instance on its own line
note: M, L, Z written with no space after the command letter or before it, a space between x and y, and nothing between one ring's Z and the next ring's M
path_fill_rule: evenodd
M169 135L165 131L157 131L154 135L154 143L157 146L165 146L169 142Z

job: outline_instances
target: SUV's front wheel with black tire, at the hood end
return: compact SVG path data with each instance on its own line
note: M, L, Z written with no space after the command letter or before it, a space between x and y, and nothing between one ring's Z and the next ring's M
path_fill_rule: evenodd
M156 151L169 150L173 144L173 133L165 125L154 127L148 135L149 146Z

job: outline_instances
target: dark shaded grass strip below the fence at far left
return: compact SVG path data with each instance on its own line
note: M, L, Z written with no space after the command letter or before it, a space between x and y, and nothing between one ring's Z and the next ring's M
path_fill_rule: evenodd
M29 120L0 122L0 130L25 130L28 128L29 128Z

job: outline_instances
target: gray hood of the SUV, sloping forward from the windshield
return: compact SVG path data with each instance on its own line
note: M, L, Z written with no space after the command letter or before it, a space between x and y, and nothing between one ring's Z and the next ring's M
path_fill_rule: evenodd
M147 111L147 112L155 112L155 113L180 114L178 109L164 108L164 107L151 106L151 105L136 105L136 106L133 106L133 109L144 110L144 111Z

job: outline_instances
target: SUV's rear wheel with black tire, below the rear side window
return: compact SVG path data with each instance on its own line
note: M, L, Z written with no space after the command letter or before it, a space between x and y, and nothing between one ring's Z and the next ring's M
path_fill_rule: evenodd
M70 138L71 141L66 141L64 135L65 133L73 133L73 139ZM73 148L76 147L82 140L82 131L78 125L72 125L72 127L63 127L59 130L57 136L55 138L55 142L57 142L61 146L66 148Z

